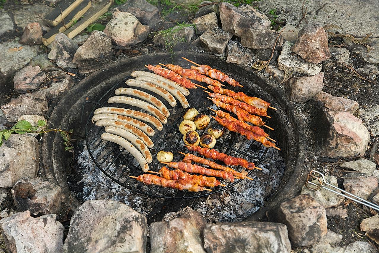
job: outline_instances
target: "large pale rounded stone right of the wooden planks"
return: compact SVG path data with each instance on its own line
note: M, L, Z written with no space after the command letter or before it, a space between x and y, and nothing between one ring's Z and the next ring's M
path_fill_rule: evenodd
M118 46L130 46L146 40L149 27L141 24L132 14L114 8L104 32Z

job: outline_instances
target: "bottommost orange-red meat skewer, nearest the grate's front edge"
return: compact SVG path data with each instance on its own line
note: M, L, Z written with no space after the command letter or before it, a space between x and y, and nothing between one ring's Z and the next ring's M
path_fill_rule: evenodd
M129 176L132 178L135 178L139 182L143 182L145 185L160 185L163 187L169 187L172 189L177 189L177 190L188 190L188 191L212 191L211 189L207 189L204 187L201 187L197 184L192 184L186 180L179 179L179 180L170 180L170 179L165 179L163 177L159 177L156 175L152 174L142 174L139 175L138 177L133 177Z

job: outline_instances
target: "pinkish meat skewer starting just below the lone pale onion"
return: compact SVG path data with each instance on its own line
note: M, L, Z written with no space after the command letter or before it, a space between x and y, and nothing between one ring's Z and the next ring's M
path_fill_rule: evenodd
M233 174L226 171L215 171L214 169L207 169L197 164L185 163L182 161L179 161L177 163L169 162L169 163L164 163L164 164L167 164L171 168L180 169L181 171L185 171L189 173L197 173L197 174L202 174L202 175L207 175L207 176L212 176L212 177L221 177L222 179L228 179L230 182L234 181Z

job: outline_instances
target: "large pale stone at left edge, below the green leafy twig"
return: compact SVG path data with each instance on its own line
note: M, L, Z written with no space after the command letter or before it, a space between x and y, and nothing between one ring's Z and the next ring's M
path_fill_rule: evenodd
M33 136L11 134L0 147L0 154L0 187L13 187L23 177L37 177L38 141Z

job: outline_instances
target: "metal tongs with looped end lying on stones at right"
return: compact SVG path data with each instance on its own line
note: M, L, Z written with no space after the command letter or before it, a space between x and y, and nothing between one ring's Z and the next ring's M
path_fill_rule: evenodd
M311 178L312 178L312 180L317 179L319 183L318 184L317 183L313 183L312 181L310 181ZM357 202L359 204L365 205L367 207L370 207L370 208L372 208L374 210L379 211L379 206L378 205L376 205L376 204L374 204L374 203L372 203L370 201L367 201L365 199L359 198L358 196L356 196L354 194L351 194L348 191L342 190L341 188L335 187L334 185L332 185L330 183L327 183L326 180L325 180L324 174L322 174L319 171L312 170L312 171L310 171L308 173L307 182L305 183L305 186L308 187L312 191L317 191L320 188L326 189L328 191L332 191L335 194L344 196L347 199L350 199L350 200L355 201L355 202ZM332 188L337 189L337 190L339 190L339 191L341 191L343 193L346 193L346 194L342 194L342 193L340 193L338 191L333 190Z

